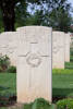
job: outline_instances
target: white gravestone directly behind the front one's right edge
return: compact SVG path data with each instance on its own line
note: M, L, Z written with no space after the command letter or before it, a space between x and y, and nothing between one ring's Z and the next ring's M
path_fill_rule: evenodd
M52 32L52 68L64 69L64 33Z

